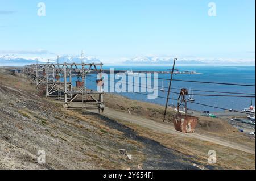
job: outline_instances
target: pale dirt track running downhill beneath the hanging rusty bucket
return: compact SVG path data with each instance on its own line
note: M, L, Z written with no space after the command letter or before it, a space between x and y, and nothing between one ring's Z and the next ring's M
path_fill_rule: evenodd
M128 121L130 123L138 124L142 127L153 129L154 131L160 131L160 132L171 133L171 134L176 134L176 135L178 134L181 137L192 137L192 138L212 142L213 144L227 146L229 148L237 149L237 150L244 151L246 153L255 155L255 148L254 149L248 148L245 145L240 145L240 144L225 141L225 140L219 140L217 137L203 135L203 134L199 134L199 133L184 134L184 133L175 131L175 129L172 125L158 123L153 120L146 119L144 117L130 115L129 113L115 111L115 110L112 110L109 108L105 108L104 115L109 118L112 118L112 119L119 119L122 121Z

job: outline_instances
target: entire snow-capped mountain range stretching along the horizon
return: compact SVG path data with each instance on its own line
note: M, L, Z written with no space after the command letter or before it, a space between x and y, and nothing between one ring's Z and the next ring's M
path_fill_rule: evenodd
M37 61L38 60L38 61ZM141 56L135 57L131 59L124 60L122 64L170 64L174 60L174 57L156 57L156 56ZM0 55L0 66L24 66L28 64L36 64L39 63L46 63L48 60L46 58L41 57L34 57L34 58L23 58L17 57L14 55ZM57 58L51 58L49 62L57 63ZM60 56L59 63L63 64L66 63L81 63L81 56ZM83 62L86 63L98 63L101 62L100 59L94 58L91 56L84 57ZM106 62L104 62L106 63ZM193 64L193 65L200 65L200 64L212 64L212 65L229 65L229 64L241 64L241 65L255 65L255 60L234 60L234 59L223 59L223 58L179 58L177 63L179 64Z

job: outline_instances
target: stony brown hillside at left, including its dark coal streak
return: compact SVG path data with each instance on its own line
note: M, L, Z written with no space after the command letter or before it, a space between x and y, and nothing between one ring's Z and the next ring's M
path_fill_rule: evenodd
M133 159L118 153L126 149ZM46 163L38 164L38 151ZM42 153L42 152L41 152ZM214 169L117 120L67 111L0 69L0 169Z

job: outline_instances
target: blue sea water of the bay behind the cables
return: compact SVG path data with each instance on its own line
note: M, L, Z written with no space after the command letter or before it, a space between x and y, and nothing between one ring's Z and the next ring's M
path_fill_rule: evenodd
M115 70L133 70L136 71L170 71L167 66L104 66L104 69L114 68ZM178 67L179 71L196 71L200 74L177 74L174 75L174 79L182 79L189 81L204 81L204 82L221 82L221 83L238 83L244 85L255 85L255 66L182 66ZM170 79L171 74L159 74L159 78ZM75 82L76 78L73 78ZM86 86L90 89L96 90L96 78L88 77ZM116 80L118 81L118 80ZM164 80L164 87L169 86L170 81ZM144 85L142 85L144 86ZM159 89L162 87L162 80L159 80ZM172 82L173 88L187 88L188 90L203 90L203 91L217 91L217 92L241 92L255 94L255 87L250 86L233 86L233 85L216 85L194 82ZM159 91L159 97L167 97L168 89L166 92ZM171 91L179 92L179 90L172 89ZM236 95L236 94L220 94L212 92L197 92L193 91L193 94L210 94L210 95ZM134 93L119 93L119 95L126 96L130 99L141 100L144 102L150 102L155 104L164 105L166 100L163 98L147 99L147 95L134 94ZM178 94L170 94L170 98L177 99ZM249 95L250 96L250 95ZM253 95L254 96L254 95ZM237 98L237 97L218 97L218 96L197 96L194 95L195 102L201 104L208 104L210 106L221 107L226 109L234 109L241 111L243 108L250 106L251 101L255 105L254 98ZM168 104L174 104L176 106L176 100L169 100ZM223 110L200 106L193 103L188 103L188 108L197 111L211 111L220 112Z

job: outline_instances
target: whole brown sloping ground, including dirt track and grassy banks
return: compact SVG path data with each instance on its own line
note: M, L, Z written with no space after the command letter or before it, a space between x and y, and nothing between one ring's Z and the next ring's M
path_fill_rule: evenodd
M104 100L104 115L67 111L0 68L0 169L255 169L255 138L224 119L199 116L196 133L185 135L162 123L162 106L113 94ZM39 150L46 164L38 164ZM217 151L215 165L209 150Z

